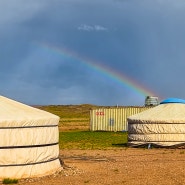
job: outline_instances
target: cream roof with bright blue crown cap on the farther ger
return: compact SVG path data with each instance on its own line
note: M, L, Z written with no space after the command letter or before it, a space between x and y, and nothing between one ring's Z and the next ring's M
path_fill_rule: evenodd
M135 114L128 122L137 123L185 123L185 100L170 98L156 107Z

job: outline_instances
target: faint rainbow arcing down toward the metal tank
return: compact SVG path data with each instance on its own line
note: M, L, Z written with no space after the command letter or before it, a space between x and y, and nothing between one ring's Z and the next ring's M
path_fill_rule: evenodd
M116 83L121 84L122 86L132 90L133 92L140 94L142 96L156 96L156 93L150 91L146 87L142 86L138 82L136 82L134 79L126 76L123 73L120 73L112 68L110 68L107 65L103 65L100 62L93 61L90 59L87 59L85 57L80 56L79 54L68 50L66 48L62 47L56 47L47 43L43 42L36 42L37 45L41 46L42 48L46 49L48 52L54 52L58 55L67 58L67 59L73 59L75 61L80 62L84 66L90 68L91 70L94 70L101 75L106 76L107 78L115 81Z

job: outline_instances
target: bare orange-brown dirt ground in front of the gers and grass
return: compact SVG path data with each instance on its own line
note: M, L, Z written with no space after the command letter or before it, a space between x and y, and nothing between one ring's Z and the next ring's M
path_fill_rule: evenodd
M25 179L19 184L185 184L185 149L61 150L60 157L64 162L64 169L60 172Z

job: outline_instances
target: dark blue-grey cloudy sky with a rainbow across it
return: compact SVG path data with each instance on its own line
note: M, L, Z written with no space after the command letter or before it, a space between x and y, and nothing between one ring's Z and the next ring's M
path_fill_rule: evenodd
M185 99L184 0L0 0L0 94L31 105Z

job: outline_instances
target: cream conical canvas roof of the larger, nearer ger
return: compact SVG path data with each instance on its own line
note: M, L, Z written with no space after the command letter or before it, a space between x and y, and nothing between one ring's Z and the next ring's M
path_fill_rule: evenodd
M59 117L49 112L0 96L0 127L56 125Z

